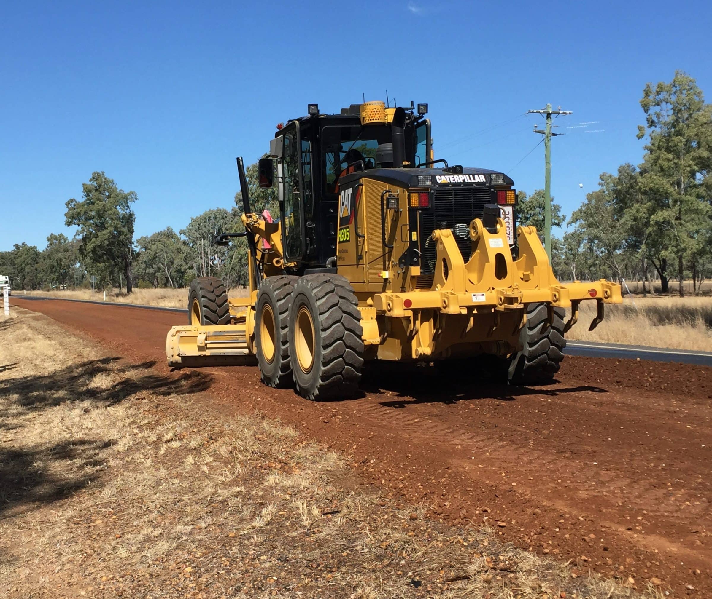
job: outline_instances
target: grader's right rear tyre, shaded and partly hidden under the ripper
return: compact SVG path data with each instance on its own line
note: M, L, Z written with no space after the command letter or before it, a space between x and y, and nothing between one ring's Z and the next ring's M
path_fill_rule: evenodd
M527 322L520 332L523 349L511 356L508 381L511 385L550 383L564 359L563 308L554 308L551 327L547 326L546 304L529 304Z

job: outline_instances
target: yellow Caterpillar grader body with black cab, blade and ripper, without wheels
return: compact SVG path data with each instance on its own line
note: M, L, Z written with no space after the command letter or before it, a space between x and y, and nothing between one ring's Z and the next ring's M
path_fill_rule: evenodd
M508 237L505 221L496 218L510 216L513 226L513 206L506 204L515 203L516 194L505 174L447 164L434 168L429 121L422 120L421 106L426 112L426 105L419 105L415 115L413 106L366 102L327 118L311 105L308 119L288 122L276 133L270 157L260 161L259 184L264 180L272 186L276 179L282 220L269 223L252 213L243 169L245 233L225 234L247 237L247 297L229 300L229 314L220 315L224 324L173 327L166 341L170 366L223 364L256 353L264 357L266 351L256 349L263 335L262 328L256 333L256 320L266 322L262 318L268 312L259 308L256 319L256 309L280 280L265 284L270 277L281 276L293 289L322 280L298 283L298 277L329 277L334 270L344 277L338 285L343 289L347 283L353 291L348 290L350 313L356 307L360 312L363 359L511 358L523 349L528 307L541 314L538 304L545 304L550 325L555 309L569 309L565 332L576 322L580 302L597 302L591 328L602 321L604 304L622 302L620 286L606 280L560 283L535 228L519 226L516 240L511 230ZM321 159L313 160L316 156ZM317 166L321 179L312 170ZM300 229L300 238L291 236ZM303 293L294 292L293 301ZM560 311L556 318L561 329Z

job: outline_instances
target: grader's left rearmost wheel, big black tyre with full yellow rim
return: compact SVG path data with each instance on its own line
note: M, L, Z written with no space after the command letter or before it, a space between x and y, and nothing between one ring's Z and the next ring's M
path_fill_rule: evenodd
M290 359L300 396L354 396L363 366L362 334L358 300L345 277L300 277L289 312Z

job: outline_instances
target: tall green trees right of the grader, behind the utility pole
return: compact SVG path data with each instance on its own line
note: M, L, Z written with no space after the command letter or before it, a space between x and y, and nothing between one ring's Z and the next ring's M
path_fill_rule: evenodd
M642 162L601 174L570 230L552 240L553 266L561 280L640 280L644 292L658 280L664 293L676 280L681 296L692 280L700 292L712 275L712 105L681 71L669 83L648 83L640 105ZM543 209L543 198L535 204L526 209ZM554 213L553 223L565 224L559 206Z

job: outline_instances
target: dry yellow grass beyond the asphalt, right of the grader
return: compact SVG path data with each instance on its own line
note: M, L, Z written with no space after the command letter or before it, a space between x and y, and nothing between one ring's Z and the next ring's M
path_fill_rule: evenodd
M582 302L567 338L712 351L712 297L626 297L606 306L604 322L590 332L595 312L595 302Z

